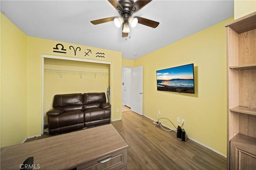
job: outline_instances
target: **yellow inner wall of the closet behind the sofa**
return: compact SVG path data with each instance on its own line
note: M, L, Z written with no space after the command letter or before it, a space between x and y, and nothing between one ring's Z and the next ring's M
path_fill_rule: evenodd
M110 64L45 58L44 68L78 71L44 71L44 125L48 124L46 112L52 109L54 95L92 92L106 94L110 86Z

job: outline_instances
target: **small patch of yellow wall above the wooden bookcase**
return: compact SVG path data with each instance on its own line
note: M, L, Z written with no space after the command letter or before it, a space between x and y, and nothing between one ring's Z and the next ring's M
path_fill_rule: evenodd
M234 0L234 19L256 11L256 0Z

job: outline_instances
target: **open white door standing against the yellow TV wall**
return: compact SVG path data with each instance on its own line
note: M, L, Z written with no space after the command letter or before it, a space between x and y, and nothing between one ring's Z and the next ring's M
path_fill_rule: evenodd
M142 115L143 66L132 68L131 110Z

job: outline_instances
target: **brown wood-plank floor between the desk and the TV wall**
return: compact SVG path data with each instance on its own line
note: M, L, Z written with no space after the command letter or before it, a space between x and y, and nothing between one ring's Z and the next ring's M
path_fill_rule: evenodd
M225 170L226 158L195 143L176 138L132 111L112 122L129 145L128 170Z

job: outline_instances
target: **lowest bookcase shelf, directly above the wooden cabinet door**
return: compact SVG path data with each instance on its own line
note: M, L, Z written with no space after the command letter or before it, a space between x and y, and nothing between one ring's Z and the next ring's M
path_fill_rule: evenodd
M230 141L244 145L250 149L256 150L256 138L238 133Z

